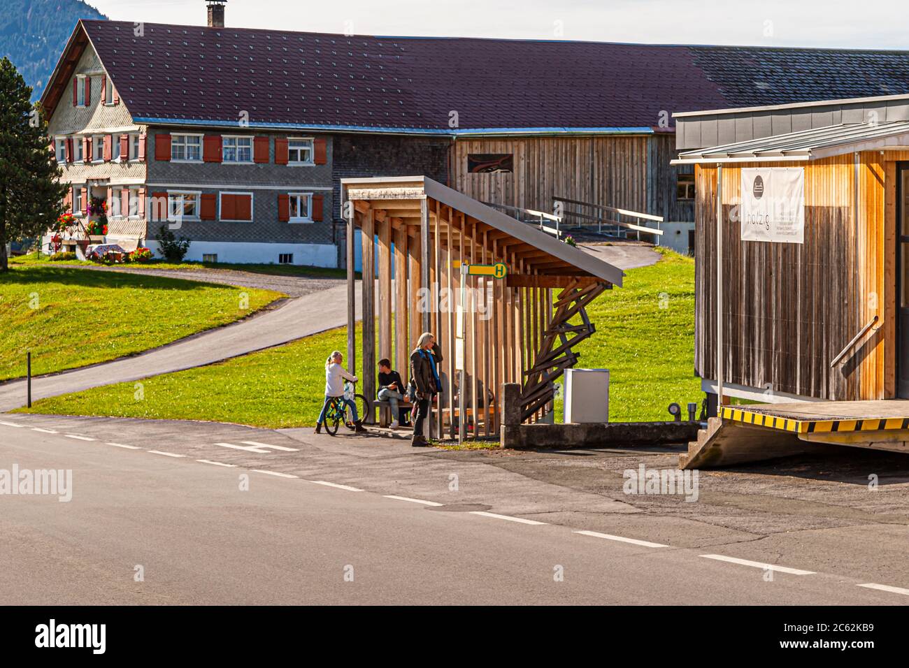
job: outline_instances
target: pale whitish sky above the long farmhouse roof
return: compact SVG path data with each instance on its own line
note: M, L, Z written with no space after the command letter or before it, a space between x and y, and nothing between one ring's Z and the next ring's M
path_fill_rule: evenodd
M115 20L206 20L205 0L86 2ZM904 0L228 0L225 10L228 26L353 35L909 49Z

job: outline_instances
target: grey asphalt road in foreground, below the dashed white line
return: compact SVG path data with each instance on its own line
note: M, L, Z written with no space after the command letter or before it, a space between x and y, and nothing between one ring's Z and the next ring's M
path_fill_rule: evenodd
M305 474L307 460L320 465L319 448L289 450L295 440L285 434L234 434L265 451L255 454L201 442L186 450L162 437L125 448L134 434L122 429L118 446L84 435L90 429L5 422L19 426L0 424L0 469L71 469L73 496L0 495L4 603L909 602L845 573L794 563L768 571L730 549L656 546L496 513L501 500L494 514L477 514L490 506L408 496L413 486L394 481L355 485L342 469ZM284 454L301 474L273 464ZM409 469L431 459L399 458Z

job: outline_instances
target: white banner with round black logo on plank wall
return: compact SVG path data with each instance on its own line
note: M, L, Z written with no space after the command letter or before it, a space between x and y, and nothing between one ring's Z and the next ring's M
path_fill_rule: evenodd
M804 167L742 169L742 241L804 243Z

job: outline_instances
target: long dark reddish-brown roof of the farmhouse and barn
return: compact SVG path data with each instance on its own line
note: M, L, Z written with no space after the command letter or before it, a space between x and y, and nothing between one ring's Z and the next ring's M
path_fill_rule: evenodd
M345 36L84 21L141 119L448 133L909 92L904 52Z

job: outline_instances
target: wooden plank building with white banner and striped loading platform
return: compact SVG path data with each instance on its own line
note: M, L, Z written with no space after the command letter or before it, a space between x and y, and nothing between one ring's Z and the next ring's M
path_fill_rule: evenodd
M697 193L694 369L722 418L683 464L905 451L909 403L881 400L909 399L909 96L675 119Z

